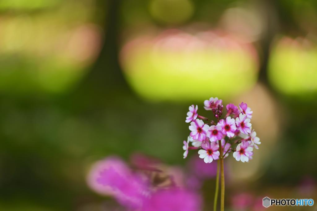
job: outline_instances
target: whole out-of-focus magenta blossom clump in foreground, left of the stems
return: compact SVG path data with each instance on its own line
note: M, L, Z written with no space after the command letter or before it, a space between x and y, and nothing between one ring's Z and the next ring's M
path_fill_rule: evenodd
M136 156L134 158L134 162L139 165L145 164L146 167L156 163L147 159L146 156ZM142 165L142 167L144 166ZM174 186L177 183L176 181L182 180L180 178L183 175L181 169L171 168L169 170L172 175L170 179L173 182L164 190L152 186L147 174L137 174L136 172L131 171L120 158L109 157L92 166L87 182L93 190L113 196L117 202L128 210L200 210L200 197L196 193L177 189Z

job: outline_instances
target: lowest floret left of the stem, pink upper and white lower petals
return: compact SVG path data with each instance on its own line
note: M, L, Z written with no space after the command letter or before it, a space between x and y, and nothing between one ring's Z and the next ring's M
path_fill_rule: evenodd
M219 159L220 152L219 145L216 142L208 140L203 141L201 144L203 149L198 151L199 158L203 158L205 163L211 163L213 160Z

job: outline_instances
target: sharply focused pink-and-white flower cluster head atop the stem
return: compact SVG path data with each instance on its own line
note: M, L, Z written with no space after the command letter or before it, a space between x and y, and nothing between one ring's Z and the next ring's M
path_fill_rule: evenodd
M191 132L187 141L184 141L184 158L189 150L198 150L199 158L204 159L205 163L211 163L228 157L232 151L237 161L249 162L253 149L259 149L261 142L252 129L250 121L253 111L247 103L241 102L238 107L232 103L227 104L227 114L223 118L222 100L217 97L205 100L204 109L212 111L215 120L198 115L197 105L189 107L185 122L190 123ZM219 152L219 141L222 155Z

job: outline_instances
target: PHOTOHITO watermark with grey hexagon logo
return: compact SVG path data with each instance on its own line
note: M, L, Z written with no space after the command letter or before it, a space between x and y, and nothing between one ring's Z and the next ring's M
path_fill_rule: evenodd
M269 206L313 206L313 199L270 199L268 197L263 198L263 207Z

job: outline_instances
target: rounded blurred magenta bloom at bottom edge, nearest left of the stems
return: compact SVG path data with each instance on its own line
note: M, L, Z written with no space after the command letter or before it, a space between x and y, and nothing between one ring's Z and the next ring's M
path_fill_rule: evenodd
M159 190L145 203L141 211L199 211L201 199L181 189Z

